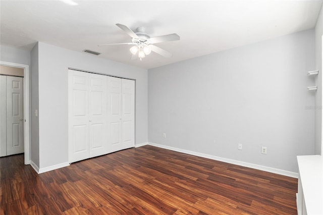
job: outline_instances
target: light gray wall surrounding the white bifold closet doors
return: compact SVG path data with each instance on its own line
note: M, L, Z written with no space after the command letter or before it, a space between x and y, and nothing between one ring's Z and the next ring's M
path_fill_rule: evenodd
M68 68L136 79L136 144L147 142L147 70L38 43L39 168L68 162ZM34 110L31 110L33 113Z

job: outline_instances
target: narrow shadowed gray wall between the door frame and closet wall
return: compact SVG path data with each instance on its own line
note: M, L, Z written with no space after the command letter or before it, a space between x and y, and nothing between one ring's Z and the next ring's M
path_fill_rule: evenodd
M35 110L39 109L39 87L38 87L38 43L31 50L30 69L30 160L39 167L39 120L35 116Z

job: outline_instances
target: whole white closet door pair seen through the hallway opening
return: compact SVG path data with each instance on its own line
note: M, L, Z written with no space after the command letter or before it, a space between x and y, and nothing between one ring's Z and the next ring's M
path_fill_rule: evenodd
M0 75L0 156L24 152L23 78Z

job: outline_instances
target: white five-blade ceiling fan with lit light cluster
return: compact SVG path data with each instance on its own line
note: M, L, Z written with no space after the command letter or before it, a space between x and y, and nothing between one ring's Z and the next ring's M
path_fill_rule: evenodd
M129 36L131 36L131 42L124 42L124 43L112 43L112 44L102 44L98 46L103 45L133 45L130 48L130 52L132 53L131 60L135 60L140 58L140 61L142 58L144 58L146 55L149 55L151 51L156 52L158 55L164 56L166 58L170 58L172 56L172 53L164 50L163 48L159 48L158 46L155 46L153 44L160 43L160 42L168 42L168 41L175 41L180 40L180 36L177 34L168 34L163 36L156 36L156 37L150 37L148 34L145 33L144 27L138 27L137 32L133 32L129 27L122 25L122 24L116 24L119 28L121 28L123 31L125 31ZM138 56L136 55L138 53Z

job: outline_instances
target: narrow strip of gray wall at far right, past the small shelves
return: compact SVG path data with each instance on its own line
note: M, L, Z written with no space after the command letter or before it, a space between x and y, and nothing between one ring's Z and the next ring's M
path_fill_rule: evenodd
M323 6L315 25L315 69L318 76L315 79L315 154L322 154L322 35L323 35ZM313 84L314 85L314 84Z

